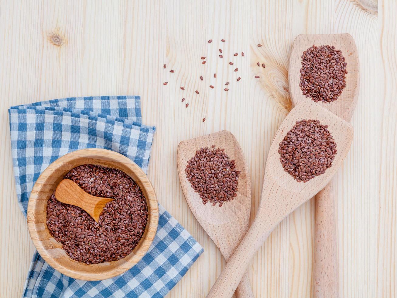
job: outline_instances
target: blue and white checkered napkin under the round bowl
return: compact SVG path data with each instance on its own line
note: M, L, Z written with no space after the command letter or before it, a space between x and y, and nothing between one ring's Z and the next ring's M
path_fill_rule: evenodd
M119 152L146 172L154 127L142 124L138 96L71 97L12 106L11 147L17 197L26 215L40 173L58 157L83 148ZM104 281L81 281L50 267L36 252L24 297L164 297L203 252L161 205L148 253L129 271Z

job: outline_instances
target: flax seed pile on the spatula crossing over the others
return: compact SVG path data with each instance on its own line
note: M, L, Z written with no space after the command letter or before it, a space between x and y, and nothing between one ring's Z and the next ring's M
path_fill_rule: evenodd
M318 120L303 119L280 142L281 165L297 182L307 182L331 167L337 149L327 128Z

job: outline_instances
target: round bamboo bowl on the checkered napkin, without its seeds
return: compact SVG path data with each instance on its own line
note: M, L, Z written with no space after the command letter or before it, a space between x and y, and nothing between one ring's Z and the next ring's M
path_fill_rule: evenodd
M148 207L148 222L145 233L135 249L117 261L91 264L71 259L62 244L51 235L46 224L47 200L72 168L82 164L97 164L118 168L130 176L141 188ZM27 224L37 251L59 272L75 279L98 281L115 277L133 267L149 250L158 225L158 204L156 194L142 169L127 157L106 149L81 149L68 153L48 166L39 176L29 197Z

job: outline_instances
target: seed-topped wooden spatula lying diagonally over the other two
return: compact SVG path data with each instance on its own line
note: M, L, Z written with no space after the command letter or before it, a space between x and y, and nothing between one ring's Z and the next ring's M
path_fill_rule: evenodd
M321 124L328 125L338 150L332 166L306 183L297 182L284 171L278 153L280 141L296 121L303 119L318 119ZM255 221L207 297L231 297L254 253L280 221L328 184L345 159L352 139L353 128L348 122L313 101L303 101L291 110L270 147Z

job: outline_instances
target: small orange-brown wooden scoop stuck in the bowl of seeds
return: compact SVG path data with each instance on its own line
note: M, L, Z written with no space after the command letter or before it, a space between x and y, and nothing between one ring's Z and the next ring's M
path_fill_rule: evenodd
M97 223L106 203L114 200L87 194L77 183L69 179L64 179L58 184L55 190L55 197L62 203L75 205L87 211Z

